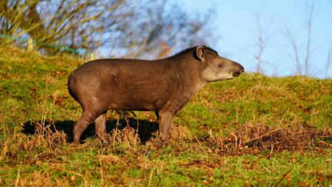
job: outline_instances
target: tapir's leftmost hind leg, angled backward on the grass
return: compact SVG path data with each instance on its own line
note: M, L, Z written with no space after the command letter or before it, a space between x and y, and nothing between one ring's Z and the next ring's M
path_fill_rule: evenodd
M83 112L81 118L78 119L78 121L74 124L73 134L74 134L74 143L75 144L80 143L80 138L81 138L81 135L84 132L84 130L86 130L86 128L89 127L89 125L91 123L93 123L95 118L100 116L100 114L102 114L102 112L100 112L100 113L91 112L91 111Z

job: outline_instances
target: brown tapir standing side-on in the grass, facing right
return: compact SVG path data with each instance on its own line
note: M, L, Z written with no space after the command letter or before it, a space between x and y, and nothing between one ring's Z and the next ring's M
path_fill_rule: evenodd
M74 143L95 123L106 134L107 110L154 111L159 136L168 139L172 118L206 83L239 76L241 64L208 46L194 46L160 60L100 59L78 67L68 78L69 93L83 114L75 123Z

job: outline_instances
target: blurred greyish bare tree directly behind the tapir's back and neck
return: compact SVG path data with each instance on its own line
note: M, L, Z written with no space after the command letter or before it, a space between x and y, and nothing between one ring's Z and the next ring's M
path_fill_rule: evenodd
M145 1L142 1L145 2ZM150 2L150 1L149 1ZM207 44L210 39L209 10L206 15L187 15L176 3L154 1L140 3L136 9L137 21L131 21L124 30L126 37L119 37L118 44L130 57L163 57L174 49L195 44ZM201 37L201 33L203 37Z

